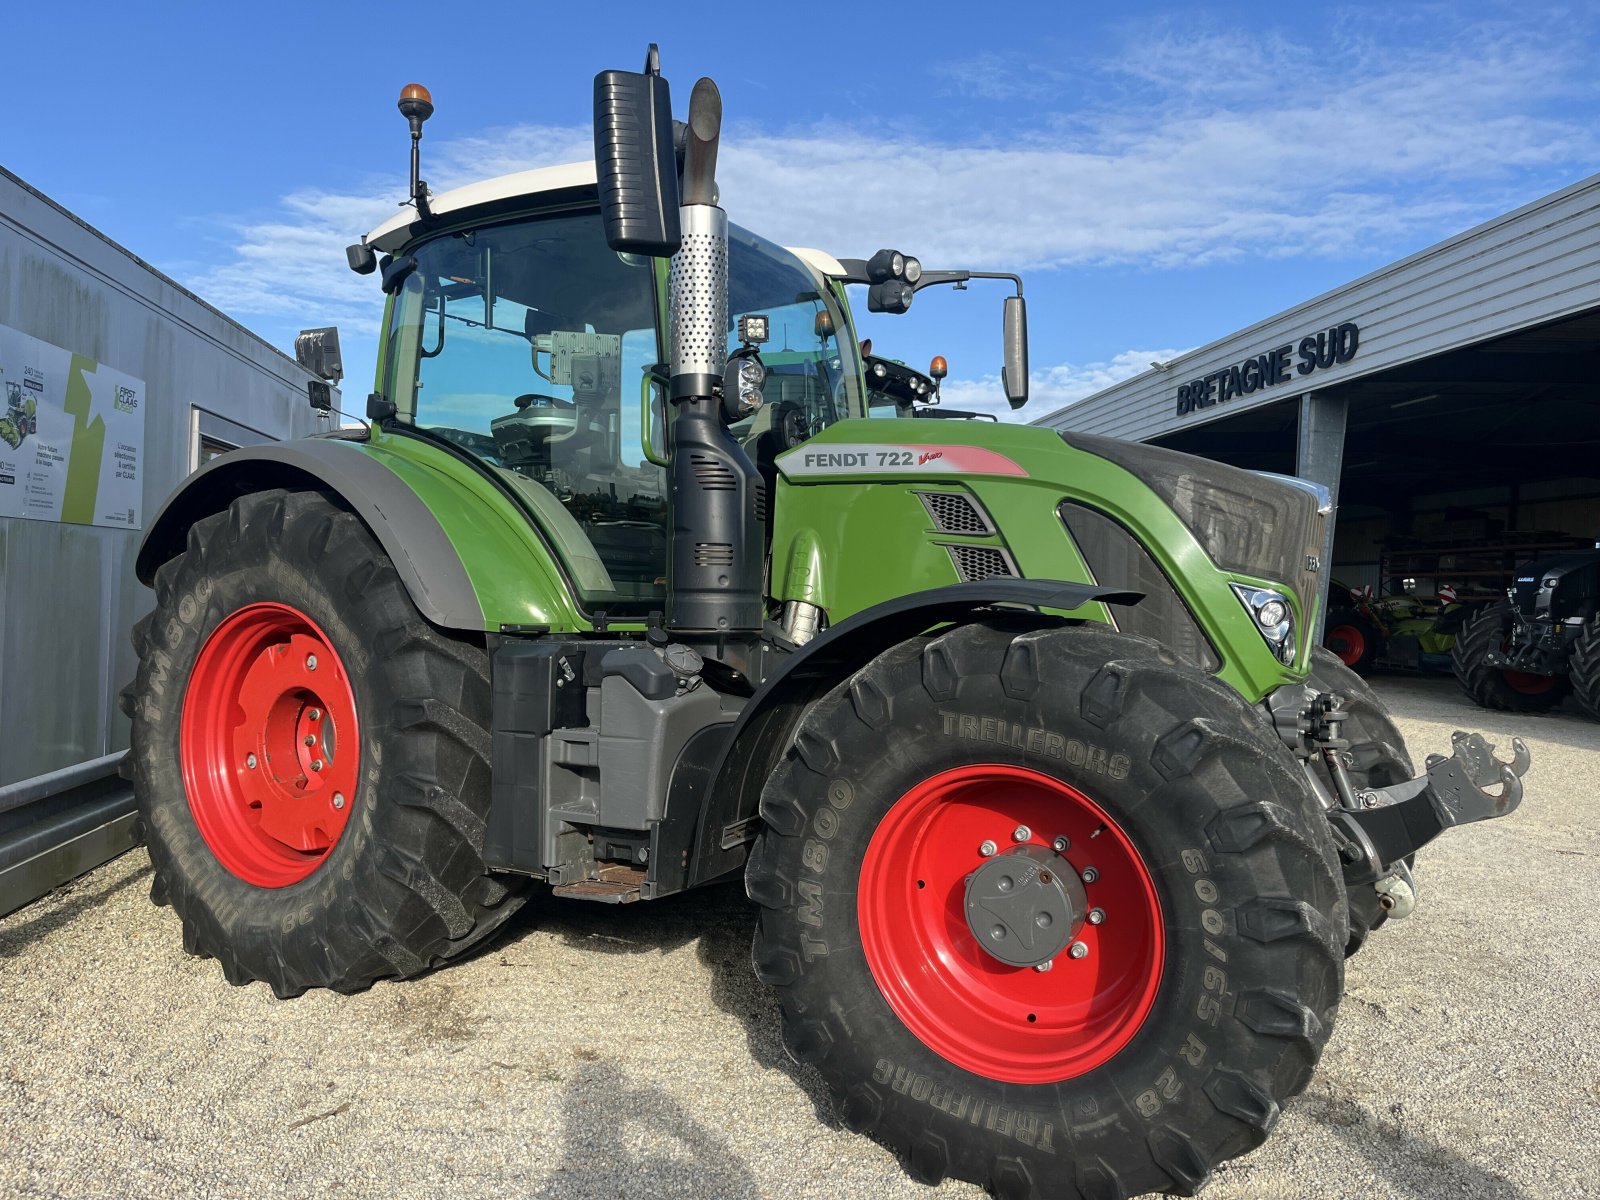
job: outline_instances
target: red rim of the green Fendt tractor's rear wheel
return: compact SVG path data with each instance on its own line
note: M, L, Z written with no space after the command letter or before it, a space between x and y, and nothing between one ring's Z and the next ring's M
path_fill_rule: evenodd
M222 621L195 659L178 741L218 862L262 888L322 866L350 816L362 741L344 662L315 621L277 603Z

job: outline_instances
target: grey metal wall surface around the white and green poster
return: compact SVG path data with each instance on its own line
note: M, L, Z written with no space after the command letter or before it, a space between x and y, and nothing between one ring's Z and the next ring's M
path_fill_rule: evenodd
M144 381L144 520L189 472L194 406L315 432L306 373L0 170L0 325ZM125 749L139 531L0 517L0 786Z

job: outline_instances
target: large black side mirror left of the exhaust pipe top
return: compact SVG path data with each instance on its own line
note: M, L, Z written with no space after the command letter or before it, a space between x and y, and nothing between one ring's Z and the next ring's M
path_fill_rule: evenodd
M645 70L595 75L595 176L611 250L670 258L678 229L678 174L672 150L672 96L654 43Z

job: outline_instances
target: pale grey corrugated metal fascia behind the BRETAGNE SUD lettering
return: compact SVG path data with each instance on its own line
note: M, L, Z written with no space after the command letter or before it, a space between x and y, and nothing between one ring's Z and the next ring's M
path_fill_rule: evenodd
M1600 176L1422 250L1246 330L1174 358L1162 371L1040 418L1035 424L1146 442L1176 429L1349 382L1403 362L1526 330L1600 304ZM1342 365L1179 414L1178 389L1246 357L1360 325ZM1158 333L1158 331L1155 331ZM1293 355L1291 355L1293 358Z

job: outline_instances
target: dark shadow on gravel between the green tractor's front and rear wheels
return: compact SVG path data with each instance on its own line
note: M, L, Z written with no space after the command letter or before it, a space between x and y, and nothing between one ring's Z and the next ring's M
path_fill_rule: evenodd
M797 1064L784 1050L778 995L755 978L750 939L757 912L739 880L637 904L592 904L536 893L506 930L475 954L493 954L536 931L554 934L584 954L670 954L693 944L710 976L712 1002L741 1024L757 1066L784 1072L811 1101L819 1120L842 1128L822 1077Z

